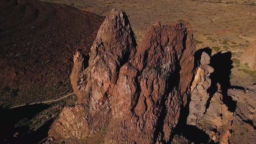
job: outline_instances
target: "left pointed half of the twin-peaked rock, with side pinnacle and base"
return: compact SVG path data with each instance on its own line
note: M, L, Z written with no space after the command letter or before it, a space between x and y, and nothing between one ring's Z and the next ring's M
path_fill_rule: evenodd
M74 110L70 108L63 109L60 115L66 114L66 116L60 116L54 122L49 131L50 136L56 137L61 134L61 138L79 139L91 137L106 128L112 117L109 97L118 79L120 67L134 55L135 46L135 38L127 16L124 12L112 10L98 30L89 53L88 65L85 65L85 56L81 52L76 52L74 56L71 83L78 97L77 102L83 108L76 105L77 114L74 114ZM82 122L82 125L87 125L86 127L77 126L80 125L79 119L70 119L72 115L79 115L78 113L86 114L86 116L75 117L86 119ZM68 115L71 117L69 118ZM70 130L67 126L73 127L72 131L65 131ZM77 133L80 134L77 135Z

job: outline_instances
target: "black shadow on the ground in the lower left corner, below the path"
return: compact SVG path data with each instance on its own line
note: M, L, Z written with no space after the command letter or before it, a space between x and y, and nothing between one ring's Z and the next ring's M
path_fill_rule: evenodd
M18 108L1 108L0 127L4 133L0 135L1 144L35 144L48 135L48 130L53 123L50 119L36 131L31 131L26 123L39 112L49 108L49 105L35 104ZM16 133L16 136L14 136Z

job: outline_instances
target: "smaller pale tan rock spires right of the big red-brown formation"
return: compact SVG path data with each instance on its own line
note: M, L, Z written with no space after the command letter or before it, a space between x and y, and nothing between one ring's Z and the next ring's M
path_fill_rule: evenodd
M217 84L218 90L213 95L209 92L211 86L209 76L214 71L209 64L210 56L203 52L200 66L191 86L187 124L206 131L210 141L228 144L231 136L233 112L228 111L228 107L223 103L220 84Z

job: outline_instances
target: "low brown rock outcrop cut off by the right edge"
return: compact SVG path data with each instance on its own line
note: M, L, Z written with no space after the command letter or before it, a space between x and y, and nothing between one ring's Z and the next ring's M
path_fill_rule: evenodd
M231 143L253 144L256 141L256 84L231 88L228 95L236 101Z

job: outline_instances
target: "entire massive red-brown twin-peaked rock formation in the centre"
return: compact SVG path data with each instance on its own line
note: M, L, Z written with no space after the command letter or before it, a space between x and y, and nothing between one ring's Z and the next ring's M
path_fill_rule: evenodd
M79 105L63 109L50 136L80 139L106 129L107 144L170 142L194 74L192 28L184 21L158 22L135 46L127 16L112 10L89 66L81 53L74 56L71 81Z

